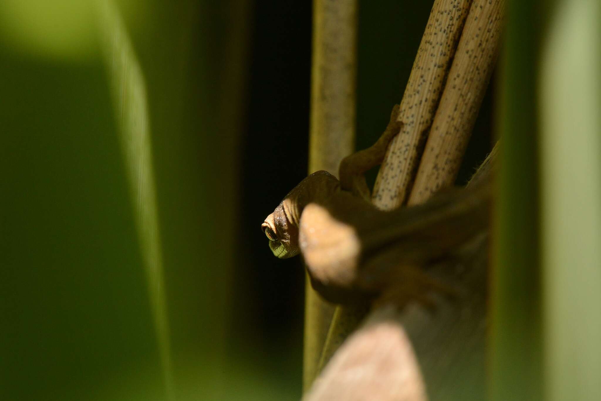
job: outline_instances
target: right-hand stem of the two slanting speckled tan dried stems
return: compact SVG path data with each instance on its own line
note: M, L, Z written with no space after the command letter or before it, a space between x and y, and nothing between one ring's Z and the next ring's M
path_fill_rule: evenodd
M453 185L496 63L505 1L474 0L407 205Z

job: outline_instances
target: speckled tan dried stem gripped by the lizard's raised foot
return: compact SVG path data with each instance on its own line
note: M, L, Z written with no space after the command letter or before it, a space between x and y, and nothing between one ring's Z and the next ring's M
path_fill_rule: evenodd
M388 147L372 201L383 210L401 206L409 195L421 151L447 79L469 0L435 1L401 101L401 132Z

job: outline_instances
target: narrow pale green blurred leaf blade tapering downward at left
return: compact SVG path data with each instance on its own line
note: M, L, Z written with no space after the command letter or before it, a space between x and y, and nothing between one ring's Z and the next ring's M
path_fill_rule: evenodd
M162 249L159 238L156 188L152 164L146 85L121 16L111 0L100 0L99 26L108 69L118 135L120 136L136 229L146 271L148 295L172 399L169 323L165 305Z

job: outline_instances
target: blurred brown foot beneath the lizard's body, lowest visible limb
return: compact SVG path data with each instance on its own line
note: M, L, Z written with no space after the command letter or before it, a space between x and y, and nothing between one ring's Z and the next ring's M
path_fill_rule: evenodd
M416 301L433 312L436 310L436 301L433 295L442 295L445 298L459 296L456 289L433 278L420 268L403 266L399 270L395 279L391 280L391 284L374 301L374 306L393 304L398 308L403 308L410 302Z

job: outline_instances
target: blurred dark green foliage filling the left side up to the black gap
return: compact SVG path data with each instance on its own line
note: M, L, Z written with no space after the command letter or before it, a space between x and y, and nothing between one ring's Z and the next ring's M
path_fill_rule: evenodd
M0 4L0 399L294 397L225 354L236 6Z

